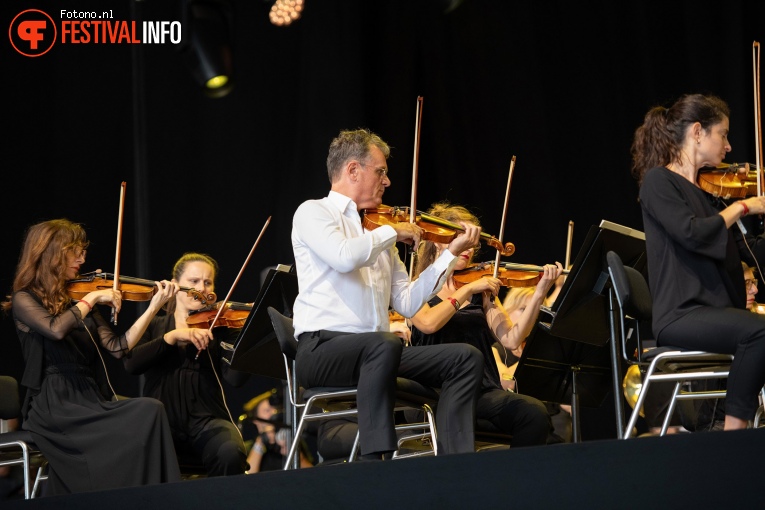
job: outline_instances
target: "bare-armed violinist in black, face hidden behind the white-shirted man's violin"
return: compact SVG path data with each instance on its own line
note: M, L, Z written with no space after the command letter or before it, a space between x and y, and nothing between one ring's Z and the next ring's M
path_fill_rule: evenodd
M451 222L479 224L478 219L461 206L436 204L428 213ZM413 277L431 264L444 248L445 245L439 243L420 242ZM469 248L459 255L455 272L470 265L474 251ZM412 317L413 345L467 343L483 353L483 380L476 417L512 435L514 447L545 444L552 425L542 402L502 388L491 346L495 337L509 350L520 346L531 333L539 307L562 270L559 263L544 266L530 306L516 323L499 302L500 280L493 277L479 278L458 287L455 276L451 275L441 290Z

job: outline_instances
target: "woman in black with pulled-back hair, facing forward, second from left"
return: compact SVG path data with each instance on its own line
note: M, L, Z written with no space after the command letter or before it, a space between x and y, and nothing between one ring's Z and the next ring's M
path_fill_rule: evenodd
M210 256L186 253L173 268L172 285L214 290L218 264ZM131 374L144 374L143 394L165 404L179 459L204 465L208 476L243 474L247 451L226 407L221 380L241 386L249 374L222 361L221 340L233 343L236 328L190 327L189 316L202 303L180 292L168 313L154 317L133 355ZM214 334L213 334L214 332ZM181 462L183 464L183 462Z

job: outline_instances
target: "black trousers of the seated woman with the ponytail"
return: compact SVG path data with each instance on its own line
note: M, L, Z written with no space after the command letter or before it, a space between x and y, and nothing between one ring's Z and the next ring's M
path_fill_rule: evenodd
M702 307L665 327L657 343L733 354L725 414L754 418L765 384L765 316L738 308Z

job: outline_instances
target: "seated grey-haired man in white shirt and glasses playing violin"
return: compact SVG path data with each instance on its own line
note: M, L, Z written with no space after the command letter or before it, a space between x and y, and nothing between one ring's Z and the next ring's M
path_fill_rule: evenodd
M390 148L368 130L342 131L330 144L329 195L298 207L292 249L299 294L294 306L297 372L304 387L358 387L361 456L396 449L396 377L441 388L439 453L474 451L475 399L483 360L467 344L404 348L390 332L388 309L411 317L443 285L456 256L478 244L480 228L463 224L441 256L413 282L396 242L416 246L409 222L362 227L363 209L379 207L390 186Z

